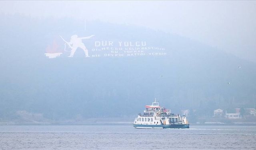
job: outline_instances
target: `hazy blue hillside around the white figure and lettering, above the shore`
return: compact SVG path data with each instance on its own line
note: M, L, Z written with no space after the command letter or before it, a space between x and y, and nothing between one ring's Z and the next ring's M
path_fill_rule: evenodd
M136 116L156 98L173 112L255 108L256 64L178 35L147 28L62 18L0 16L0 118L19 111L58 119ZM64 51L70 36L94 41L146 41L166 55L73 58ZM46 57L58 43L60 57ZM99 52L99 54L103 54ZM240 68L238 68L240 66ZM230 84L228 84L228 82Z

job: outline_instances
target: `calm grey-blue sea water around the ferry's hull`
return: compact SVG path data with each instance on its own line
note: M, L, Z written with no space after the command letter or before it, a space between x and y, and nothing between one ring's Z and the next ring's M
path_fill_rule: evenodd
M1 150L256 150L256 126L0 126Z

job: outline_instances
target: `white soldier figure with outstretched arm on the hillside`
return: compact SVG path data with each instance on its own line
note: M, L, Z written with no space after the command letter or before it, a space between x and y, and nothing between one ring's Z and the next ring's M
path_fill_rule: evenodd
M76 49L77 48L82 48L84 50L84 53L85 53L85 56L86 57L90 57L88 55L88 50L87 48L84 46L84 43L82 42L83 39L89 39L91 38L92 36L94 35L91 35L91 36L86 36L86 37L81 37L81 38L78 38L77 35L72 35L71 36L71 39L70 39L70 42L67 42L66 40L64 40L62 38L62 36L60 36L62 38L62 40L64 40L64 42L66 42L68 44L68 46L71 48L71 51L70 51L70 56L68 57L73 57L75 52L76 52Z

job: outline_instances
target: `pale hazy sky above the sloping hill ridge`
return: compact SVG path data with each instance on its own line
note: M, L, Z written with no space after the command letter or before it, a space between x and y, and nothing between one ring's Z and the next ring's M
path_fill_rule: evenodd
M0 12L145 26L256 62L256 1L1 1Z

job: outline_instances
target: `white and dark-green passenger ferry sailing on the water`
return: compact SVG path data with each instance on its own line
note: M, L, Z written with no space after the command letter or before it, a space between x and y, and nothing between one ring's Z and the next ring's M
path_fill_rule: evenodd
M172 114L170 110L161 108L159 103L152 102L152 105L146 105L144 114L138 114L133 126L135 128L189 128L186 116Z

